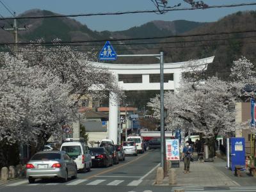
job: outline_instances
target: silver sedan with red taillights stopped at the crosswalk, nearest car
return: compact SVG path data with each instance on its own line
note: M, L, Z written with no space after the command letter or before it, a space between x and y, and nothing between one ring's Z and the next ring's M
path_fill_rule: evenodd
M61 178L67 182L69 177L76 179L76 163L63 151L38 152L26 164L26 177L29 183L35 179Z

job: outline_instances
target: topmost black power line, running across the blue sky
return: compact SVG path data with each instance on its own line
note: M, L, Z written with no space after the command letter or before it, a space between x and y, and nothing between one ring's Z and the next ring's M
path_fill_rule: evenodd
M230 8L237 6L250 6L256 5L256 3L241 3L241 4L225 4L225 5L214 5L208 7L200 8L171 8L166 9L164 12L173 12L173 11L186 11L186 10L206 10L211 8ZM108 12L108 13L81 13L81 14L70 14L70 15L41 15L41 16L27 16L27 17L15 17L15 19L47 19L47 18L60 18L60 17L89 17L97 15L125 15L133 13L157 13L159 10L138 10L138 11L127 11L127 12ZM0 20L13 19L13 17L4 17Z

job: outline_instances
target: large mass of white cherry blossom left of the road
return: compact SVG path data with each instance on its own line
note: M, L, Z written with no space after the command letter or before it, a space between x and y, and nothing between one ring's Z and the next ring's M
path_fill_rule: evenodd
M120 97L113 75L95 68L92 56L56 42L53 47L29 45L17 54L0 54L0 141L35 143L42 149L58 136L67 121L75 120L77 102Z

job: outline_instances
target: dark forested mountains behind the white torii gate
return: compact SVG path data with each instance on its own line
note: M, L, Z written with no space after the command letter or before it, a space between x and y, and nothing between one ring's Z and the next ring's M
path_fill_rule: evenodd
M20 16L56 15L47 10L29 10ZM0 26L10 28L11 21L0 20ZM92 31L86 25L74 19L61 17L52 19L24 19L19 20L19 27L28 26L27 31L19 31L19 41L29 42L38 38L51 41L61 38L63 41L100 40L111 38L145 38L150 36L193 35L202 33L220 33L232 31L256 31L256 12L237 12L216 22L192 22L188 20L163 21L154 20L141 26L124 31ZM157 40L131 40L127 42L113 42L118 54L152 54L164 51L165 62L179 62L205 58L215 55L214 62L209 65L209 75L226 77L232 66L232 61L246 56L256 62L255 32L237 33L230 35L208 35L183 38L168 38ZM223 39L223 40L220 40ZM0 42L14 42L12 33L0 29ZM156 44L160 42L160 44ZM176 43L173 43L176 42ZM140 43L140 44L138 44ZM150 44L153 43L153 44ZM96 43L95 43L96 44ZM124 45L125 44L125 45ZM134 45L135 44L135 45ZM93 46L78 46L80 50L99 51L102 43ZM112 63L156 63L154 58L119 58Z

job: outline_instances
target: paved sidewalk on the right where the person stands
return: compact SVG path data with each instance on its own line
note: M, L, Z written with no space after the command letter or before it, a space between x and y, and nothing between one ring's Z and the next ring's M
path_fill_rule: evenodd
M190 164L190 172L184 173L184 163L181 161L180 167L175 168L177 184L172 186L256 186L256 179L247 172L242 173L243 177L236 177L225 167L226 161L220 158L214 159L214 162L195 161ZM168 177L164 178L163 185L168 185Z

